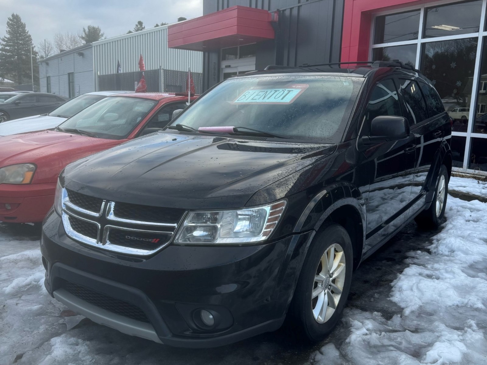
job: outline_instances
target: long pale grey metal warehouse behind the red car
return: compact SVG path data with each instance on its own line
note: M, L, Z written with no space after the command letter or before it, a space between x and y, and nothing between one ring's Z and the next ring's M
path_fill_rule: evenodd
M38 62L40 91L71 98L91 91L135 90L142 55L148 91L185 91L190 67L196 91L201 92L202 53L168 48L167 33L164 25L44 58Z

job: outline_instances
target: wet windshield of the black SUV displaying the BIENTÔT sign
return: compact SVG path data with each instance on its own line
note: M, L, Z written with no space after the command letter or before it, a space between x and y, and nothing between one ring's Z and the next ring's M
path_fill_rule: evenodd
M201 130L240 127L238 134L252 134L252 128L295 139L337 143L361 84L358 77L322 75L228 79L172 124ZM220 128L222 132L231 130Z

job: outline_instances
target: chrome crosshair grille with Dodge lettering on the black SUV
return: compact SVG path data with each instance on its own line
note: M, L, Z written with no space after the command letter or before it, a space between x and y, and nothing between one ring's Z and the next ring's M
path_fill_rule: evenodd
M94 206L87 202L94 202L98 198L91 199L92 197L86 196L89 199L80 202L80 198L84 198L79 195L84 194L76 194L66 189L62 191L62 220L66 234L79 242L124 254L145 256L161 250L169 244L186 213L181 209L101 199L101 202ZM122 206L120 210L117 209L119 204ZM94 209L98 206L99 211L96 212ZM144 212L144 207L147 208L147 212ZM134 217L129 216L130 208L136 212ZM118 212L125 214L119 217Z

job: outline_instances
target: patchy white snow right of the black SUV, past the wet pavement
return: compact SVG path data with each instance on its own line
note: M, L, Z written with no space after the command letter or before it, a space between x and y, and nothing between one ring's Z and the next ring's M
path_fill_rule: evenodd
M350 335L322 347L315 364L487 364L487 204L450 196L446 216L430 252L410 253L392 283L402 312L347 309Z

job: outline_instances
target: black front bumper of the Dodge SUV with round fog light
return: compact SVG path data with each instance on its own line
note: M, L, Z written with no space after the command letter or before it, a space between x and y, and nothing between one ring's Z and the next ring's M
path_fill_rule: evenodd
M178 347L222 346L281 326L311 236L243 247L170 244L140 258L72 240L51 211L41 239L45 286L72 310L121 332ZM200 309L215 313L214 328L199 326Z

